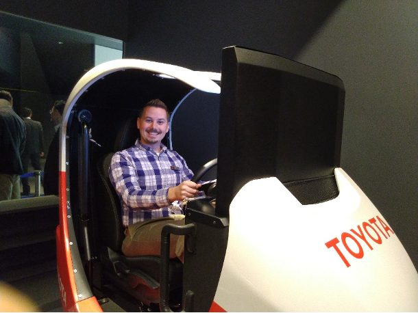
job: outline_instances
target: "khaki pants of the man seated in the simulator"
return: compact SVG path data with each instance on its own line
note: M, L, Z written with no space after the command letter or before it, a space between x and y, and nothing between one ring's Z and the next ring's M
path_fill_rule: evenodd
M140 221L128 226L122 243L125 256L160 256L161 230L164 225L173 223L184 225L184 215L176 214L159 219ZM170 235L170 258L184 260L184 236Z

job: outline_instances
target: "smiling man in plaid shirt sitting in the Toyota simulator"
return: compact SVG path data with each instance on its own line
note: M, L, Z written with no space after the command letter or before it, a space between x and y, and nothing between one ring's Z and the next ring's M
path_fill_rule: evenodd
M134 146L116 152L110 163L110 181L119 195L125 256L160 256L161 230L167 223L184 225L182 201L199 193L190 181L186 161L161 143L170 128L170 113L159 99L149 101L138 115L140 138ZM184 240L170 235L170 258L184 260Z

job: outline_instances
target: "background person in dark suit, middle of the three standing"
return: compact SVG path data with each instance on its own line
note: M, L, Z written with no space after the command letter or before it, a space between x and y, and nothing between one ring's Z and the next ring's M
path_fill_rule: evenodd
M28 172L29 163L32 164L34 170L42 171L40 166L40 157L44 156L44 135L42 124L38 121L32 120L32 109L29 107L24 107L22 109L21 116L26 125L26 144L22 156L23 172ZM29 195L29 179L26 177L21 178L21 180L23 185L22 195Z

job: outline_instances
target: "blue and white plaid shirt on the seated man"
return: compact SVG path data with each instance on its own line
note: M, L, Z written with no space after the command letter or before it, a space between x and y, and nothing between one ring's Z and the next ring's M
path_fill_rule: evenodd
M110 181L119 195L123 226L138 221L183 214L169 202L170 187L190 180L193 172L186 161L161 144L158 155L136 139L135 146L116 152L109 167Z

